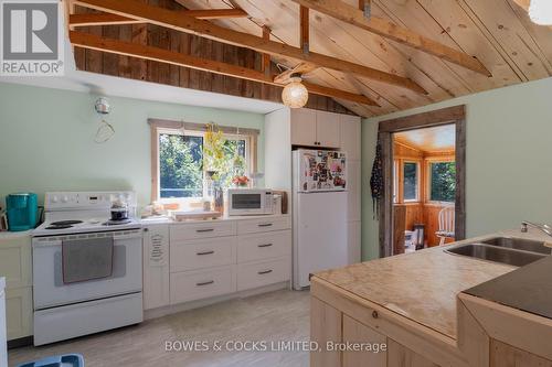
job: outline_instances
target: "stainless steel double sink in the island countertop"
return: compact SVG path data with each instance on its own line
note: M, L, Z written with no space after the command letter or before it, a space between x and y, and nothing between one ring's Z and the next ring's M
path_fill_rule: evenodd
M523 267L543 259L552 249L542 241L522 238L493 237L473 244L453 245L445 252L475 259Z

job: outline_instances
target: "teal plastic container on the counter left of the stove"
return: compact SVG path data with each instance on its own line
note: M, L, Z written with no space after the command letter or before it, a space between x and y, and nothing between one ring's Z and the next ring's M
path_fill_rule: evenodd
M18 193L6 196L8 228L10 231L29 230L39 222L39 198L33 193Z

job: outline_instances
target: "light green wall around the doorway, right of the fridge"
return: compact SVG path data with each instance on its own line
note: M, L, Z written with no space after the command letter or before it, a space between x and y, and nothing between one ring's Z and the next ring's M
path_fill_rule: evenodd
M370 172L378 121L467 105L467 236L516 228L523 219L552 223L552 78L479 93L363 120L362 255L378 257Z

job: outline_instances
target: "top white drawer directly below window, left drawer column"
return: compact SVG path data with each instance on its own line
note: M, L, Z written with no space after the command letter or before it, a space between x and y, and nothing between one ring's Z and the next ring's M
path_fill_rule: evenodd
M224 237L235 234L236 223L234 220L176 224L171 226L170 240Z

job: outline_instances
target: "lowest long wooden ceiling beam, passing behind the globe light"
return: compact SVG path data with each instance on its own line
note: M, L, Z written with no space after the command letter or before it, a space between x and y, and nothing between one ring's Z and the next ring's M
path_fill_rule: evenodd
M102 37L99 35L78 32L78 31L70 31L70 41L73 44L73 46L77 47L97 50L125 56L134 56L160 63L168 63L172 65L190 67L203 72L210 72L214 74L227 75L242 79L282 86L282 84L275 83L272 76L266 75L263 72L257 72L255 69L251 69L247 67L226 64L212 60L195 57L164 48L146 46L132 42L112 40L107 37ZM328 88L310 83L304 83L304 84L307 87L308 91L312 94L332 98L341 98L361 105L379 106L378 102L375 102L373 99L363 95L357 95L346 90Z

